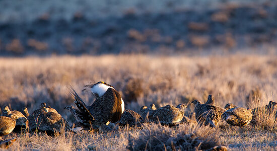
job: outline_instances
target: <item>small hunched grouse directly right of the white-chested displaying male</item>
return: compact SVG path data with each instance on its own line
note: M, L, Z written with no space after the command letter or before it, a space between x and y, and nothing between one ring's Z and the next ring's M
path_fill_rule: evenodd
M123 112L123 114L121 115L121 118L119 121L117 121L117 123L120 125L120 126L125 126L125 125L129 125L129 126L135 126L137 124L140 123L140 121L143 120L143 117L132 111L132 110L125 110Z

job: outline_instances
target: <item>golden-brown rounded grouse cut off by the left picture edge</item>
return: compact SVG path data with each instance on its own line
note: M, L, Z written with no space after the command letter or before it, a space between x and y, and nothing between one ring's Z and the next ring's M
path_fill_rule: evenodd
M0 138L11 133L15 127L15 115L12 114L11 117L0 116Z

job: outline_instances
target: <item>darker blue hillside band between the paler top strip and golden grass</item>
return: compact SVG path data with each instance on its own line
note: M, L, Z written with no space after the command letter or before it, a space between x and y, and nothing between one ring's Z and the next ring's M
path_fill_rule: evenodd
M276 43L276 3L228 3L211 8L165 13L137 13L134 8L122 15L96 14L95 18L77 11L64 18L46 13L35 15L33 20L2 20L0 55L168 54L214 48L232 51Z

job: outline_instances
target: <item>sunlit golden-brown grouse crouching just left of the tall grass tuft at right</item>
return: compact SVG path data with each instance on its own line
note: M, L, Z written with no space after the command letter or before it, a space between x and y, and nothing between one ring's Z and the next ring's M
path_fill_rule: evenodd
M245 108L231 108L222 114L222 119L232 126L245 126L252 120L251 111Z

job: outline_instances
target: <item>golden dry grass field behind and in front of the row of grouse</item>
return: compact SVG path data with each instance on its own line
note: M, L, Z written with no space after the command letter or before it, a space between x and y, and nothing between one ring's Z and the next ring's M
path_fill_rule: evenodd
M90 105L94 97L90 93L81 93L83 86L104 81L121 93L126 109L136 112L139 112L141 106L149 106L151 103L157 107L185 103L188 105L186 111L193 112L194 106L190 101L198 99L203 102L209 94L213 94L217 105L222 107L230 102L237 106L254 108L265 105L270 100L276 101L276 66L275 55L254 54L1 58L1 106L9 105L13 110L19 111L26 106L32 113L41 102L46 102L72 123L71 114L63 110L66 105L74 103L66 86L72 85L85 103ZM251 94L254 92L258 96L252 98ZM220 125L213 130L185 124L179 128L144 125L143 130L119 128L115 132L66 133L57 137L10 134L4 138L18 138L10 148L12 150L22 150L22 147L25 150L122 150L128 146L131 136L139 142L144 142L142 138L149 138L154 144L157 137L168 139L155 136L156 133L162 132L166 137L176 138L195 133L199 138L215 138L214 144L224 144L230 150L277 149L277 130L273 121L263 121L261 118L258 125L243 128L229 127L225 122ZM149 129L153 131L153 135L147 136ZM181 131L185 134L180 134ZM167 147L167 143L164 143ZM167 147L168 150L169 148Z

